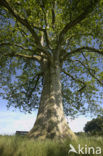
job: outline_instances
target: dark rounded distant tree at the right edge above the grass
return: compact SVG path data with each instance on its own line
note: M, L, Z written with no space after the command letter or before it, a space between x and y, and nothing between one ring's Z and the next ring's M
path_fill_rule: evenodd
M87 122L84 131L93 135L103 135L103 116Z

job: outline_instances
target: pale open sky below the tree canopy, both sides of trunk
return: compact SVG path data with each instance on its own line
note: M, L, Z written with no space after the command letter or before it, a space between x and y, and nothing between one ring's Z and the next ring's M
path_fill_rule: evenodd
M31 114L11 110L6 108L6 101L0 99L0 135L13 135L16 131L29 131L36 120L37 111ZM83 131L83 127L91 118L79 116L72 120L68 119L72 131Z

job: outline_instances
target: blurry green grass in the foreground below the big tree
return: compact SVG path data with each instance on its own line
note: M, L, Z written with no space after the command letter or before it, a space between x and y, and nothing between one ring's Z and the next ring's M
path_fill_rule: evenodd
M57 141L57 140L33 140L20 136L0 136L0 156L81 156L73 152L68 154L72 144L77 150L78 144L81 147L101 147L103 148L103 137L78 136L77 141ZM89 155L89 154L83 154ZM90 154L90 156L97 154ZM103 150L99 156L103 156Z

